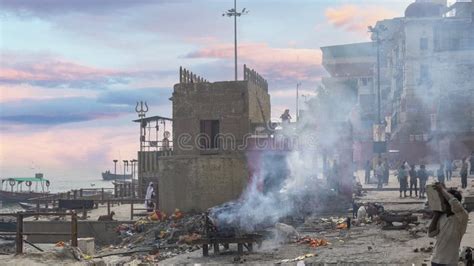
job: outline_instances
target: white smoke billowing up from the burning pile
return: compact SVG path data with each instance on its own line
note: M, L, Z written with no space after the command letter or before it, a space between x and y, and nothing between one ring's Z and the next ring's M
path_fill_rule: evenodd
M335 113L330 93L324 88L319 90L301 121L283 126L278 133L283 139L296 140L291 145L294 149L282 152L284 155L261 151L260 171L252 176L241 199L211 209L218 225L254 231L290 215L301 217L318 212L330 196L337 196L323 175L322 151L333 149L339 137L347 133L338 131L335 125L347 120L348 112L341 110L350 109L348 106L353 103L339 99L337 110L341 112ZM343 201L340 204L345 206Z

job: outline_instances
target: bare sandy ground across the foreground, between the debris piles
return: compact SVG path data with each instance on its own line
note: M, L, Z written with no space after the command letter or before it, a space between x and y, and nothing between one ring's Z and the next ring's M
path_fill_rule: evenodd
M433 180L430 180L433 181ZM474 179L469 179L469 186L474 185ZM448 182L448 186L459 186L460 179L454 177ZM367 185L371 187L374 185ZM391 176L389 187L397 187L398 183L394 176ZM470 191L464 191L464 194L474 193L474 187ZM398 191L370 191L363 196L360 201L380 202L385 209L409 211L423 208L424 200L415 197L400 198ZM138 205L137 205L138 206ZM141 206L140 206L141 207ZM130 206L118 205L112 207L117 213L115 217L118 220L129 220ZM99 215L106 212L106 206L92 210L88 215L89 219L97 219ZM347 216L348 214L341 214ZM314 219L322 218L316 216ZM474 213L469 214L469 224L467 233L464 235L461 246L474 247ZM308 219L310 220L310 219ZM422 223L428 223L429 220L421 220ZM303 229L304 228L304 229ZM216 255L210 251L209 257L203 257L201 250L178 255L176 257L161 261L160 265L170 264L235 264L245 263L253 265L273 265L278 264L284 259L294 259L305 254L316 254L315 257L306 258L299 261L299 265L305 264L345 264L356 263L364 264L386 264L386 265L421 265L428 262L431 253L414 252L415 248L428 247L435 242L435 239L428 238L426 234L419 233L416 237L407 230L381 230L379 225L368 224L361 227L352 227L350 230L329 229L315 233L314 230L307 230L308 227L300 227L301 235L308 235L316 238L325 238L331 244L324 247L311 248L303 244L278 244L272 239L264 241L262 247L253 253L244 253L243 256L237 254L237 247L232 246L228 251L222 251ZM312 232L311 232L312 231ZM57 249L57 248L56 248ZM58 255L59 253L59 255ZM109 265L123 264L130 261L130 257L111 256L103 261L95 260L96 265L106 263ZM292 262L291 264L296 264ZM13 256L1 255L0 265L85 265L86 262L79 263L69 254L62 254L56 250L53 253L39 254L28 249L26 255ZM127 265L136 265L137 262L127 263ZM283 263L285 264L285 263Z

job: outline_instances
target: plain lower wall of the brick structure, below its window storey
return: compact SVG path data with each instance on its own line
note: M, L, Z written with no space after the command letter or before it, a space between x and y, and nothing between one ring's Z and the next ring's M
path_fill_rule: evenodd
M235 200L248 180L246 158L237 154L162 157L159 169L159 207L167 213Z

